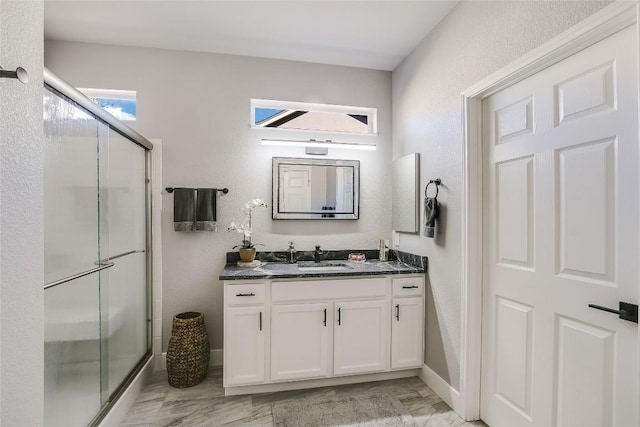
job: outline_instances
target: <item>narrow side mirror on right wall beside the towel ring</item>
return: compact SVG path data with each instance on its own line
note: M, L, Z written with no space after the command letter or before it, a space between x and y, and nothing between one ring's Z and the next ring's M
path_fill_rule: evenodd
M393 161L391 177L391 218L395 231L417 233L419 227L418 153L409 154Z

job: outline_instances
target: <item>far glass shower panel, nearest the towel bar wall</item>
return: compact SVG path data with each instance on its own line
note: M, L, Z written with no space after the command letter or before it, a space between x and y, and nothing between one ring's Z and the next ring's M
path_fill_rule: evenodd
M108 399L148 350L144 148L106 125L100 134L102 394Z

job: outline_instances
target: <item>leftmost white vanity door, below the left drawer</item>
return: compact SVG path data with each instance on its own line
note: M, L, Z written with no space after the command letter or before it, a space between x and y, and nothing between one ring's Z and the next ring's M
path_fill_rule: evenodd
M264 306L227 307L224 322L224 384L264 382Z

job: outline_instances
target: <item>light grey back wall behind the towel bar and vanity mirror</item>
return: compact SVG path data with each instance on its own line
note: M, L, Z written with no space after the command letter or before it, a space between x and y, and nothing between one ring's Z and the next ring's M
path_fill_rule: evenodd
M368 137L378 143L377 151L332 149L328 156L361 161L360 220L273 221L271 209L259 209L253 216L253 240L266 245L259 249L285 250L289 240L298 250L313 250L316 244L375 249L379 238L389 237L389 72L57 41L45 43L45 64L77 87L137 91L138 120L132 127L147 138L162 139L163 185L230 190L218 198L218 233L174 232L173 197L163 195L164 349L172 317L188 310L205 314L211 347L222 348L218 275L225 253L241 237L227 233L226 226L241 219L241 208L250 199L271 200L271 157L305 157L302 148L260 145L266 131L249 128L251 98L377 107L380 133Z

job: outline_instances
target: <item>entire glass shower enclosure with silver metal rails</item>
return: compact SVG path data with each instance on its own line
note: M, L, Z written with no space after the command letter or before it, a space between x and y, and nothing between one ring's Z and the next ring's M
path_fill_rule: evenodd
M152 145L45 70L46 425L100 422L151 356Z

